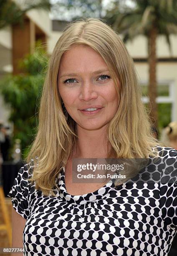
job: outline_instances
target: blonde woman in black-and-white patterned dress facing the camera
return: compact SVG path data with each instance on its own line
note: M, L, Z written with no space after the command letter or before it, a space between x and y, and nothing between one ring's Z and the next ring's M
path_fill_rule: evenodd
M147 158L148 174L165 179L176 156L152 136L119 36L99 19L69 24L51 56L28 164L9 193L13 245L39 256L167 255L177 228L174 179L132 183L135 173L125 171L123 180L74 183L72 161Z

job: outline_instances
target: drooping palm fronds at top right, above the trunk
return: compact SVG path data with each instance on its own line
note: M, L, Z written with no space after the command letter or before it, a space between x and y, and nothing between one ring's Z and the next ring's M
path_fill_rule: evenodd
M124 34L125 42L141 34L148 37L152 27L156 27L170 46L169 35L177 33L176 0L132 0L132 6L123 2L116 0L115 8L109 10L105 18L116 31Z

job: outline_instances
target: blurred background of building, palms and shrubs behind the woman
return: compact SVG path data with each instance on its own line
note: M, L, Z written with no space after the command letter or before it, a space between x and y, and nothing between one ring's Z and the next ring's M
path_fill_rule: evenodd
M63 28L82 17L102 18L119 33L134 60L154 136L177 148L176 0L1 0L0 247L10 243L7 194L37 131L48 59Z

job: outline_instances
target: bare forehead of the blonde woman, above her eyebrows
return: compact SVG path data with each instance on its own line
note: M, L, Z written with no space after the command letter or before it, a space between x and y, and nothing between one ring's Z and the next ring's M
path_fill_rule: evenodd
M66 70L87 72L102 68L108 68L108 66L99 53L90 46L77 45L72 46L62 55L59 73Z

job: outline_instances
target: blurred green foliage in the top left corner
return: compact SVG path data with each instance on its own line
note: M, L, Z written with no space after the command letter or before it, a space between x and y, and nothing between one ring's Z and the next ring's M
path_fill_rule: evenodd
M0 29L8 25L23 23L24 15L31 9L46 9L51 7L49 0L23 0L19 5L12 0L0 0Z

